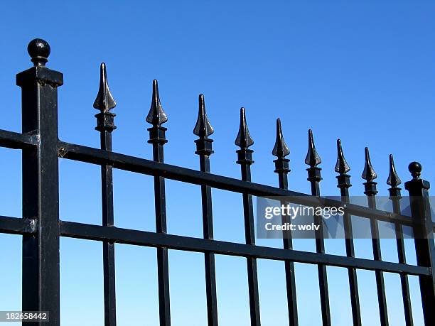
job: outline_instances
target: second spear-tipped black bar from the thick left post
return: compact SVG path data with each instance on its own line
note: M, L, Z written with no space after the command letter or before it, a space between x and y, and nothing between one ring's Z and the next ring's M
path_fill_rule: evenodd
M153 81L153 98L146 121L153 126L149 129L149 143L153 145L153 160L163 163L163 145L167 143L165 127L161 126L168 117L161 107L157 80ZM154 205L156 208L156 232L166 233L166 195L165 179L154 177ZM161 326L171 325L171 306L169 300L168 248L157 247L157 273L159 279L159 316Z

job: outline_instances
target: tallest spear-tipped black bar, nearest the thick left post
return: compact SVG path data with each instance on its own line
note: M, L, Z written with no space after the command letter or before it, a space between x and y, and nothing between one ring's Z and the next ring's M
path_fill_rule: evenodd
M112 131L117 129L114 125L114 116L110 112L116 106L107 83L106 65L100 66L100 88L94 102L95 109L100 113L96 114L97 126L95 130L100 131L100 146L104 151L112 151ZM113 171L112 165L101 165L101 196L102 196L102 225L104 227L114 226L113 213ZM104 276L104 325L117 325L117 307L115 295L115 266L114 266L114 243L103 241L103 276Z

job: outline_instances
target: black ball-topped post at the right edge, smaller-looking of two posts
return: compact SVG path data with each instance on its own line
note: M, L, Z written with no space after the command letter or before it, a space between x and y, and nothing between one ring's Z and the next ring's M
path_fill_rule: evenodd
M405 183L409 192L412 219L414 220L414 239L417 264L431 269L431 275L419 276L421 304L423 305L424 325L435 325L435 244L434 228L429 204L429 187L426 180L420 179L421 165L409 164L412 180Z

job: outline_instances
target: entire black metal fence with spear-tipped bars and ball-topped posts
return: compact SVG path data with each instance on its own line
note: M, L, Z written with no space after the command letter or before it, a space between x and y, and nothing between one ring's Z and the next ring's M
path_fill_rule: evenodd
M50 312L50 321L45 325L60 325L59 307L59 239L72 237L101 241L103 244L104 265L104 325L116 325L115 305L115 268L114 244L133 244L151 246L157 249L157 266L159 280L159 316L160 325L171 325L168 249L196 251L204 254L205 284L208 310L208 325L218 325L218 305L216 298L215 254L242 256L247 259L247 276L249 288L249 307L251 325L260 325L259 288L257 281L257 259L273 259L284 261L286 275L286 295L288 303L289 324L298 325L298 309L296 305L296 282L294 262L311 263L318 266L319 290L323 325L331 325L330 302L328 297L328 281L326 266L347 268L353 324L361 325L360 301L358 296L357 269L375 271L377 298L381 325L388 325L387 303L385 298L384 272L397 273L401 279L402 298L406 325L413 325L412 309L409 298L408 276L419 277L424 323L435 325L435 247L434 224L429 208L429 183L420 178L421 165L413 162L409 165L412 180L405 183L411 199L412 219L401 214L401 183L394 169L390 156L390 200L394 212L377 210L374 181L376 173L370 163L369 152L365 152L366 180L365 195L368 207L352 205L349 202L350 170L343 156L340 140L337 142L338 159L335 171L338 173L338 188L341 202L329 200L331 205L348 203L344 216L346 256L325 253L323 238L316 239L316 252L296 251L292 249L291 239L284 239L283 248L257 246L254 237L254 214L252 196L300 196L305 205L316 205L314 196L320 195L321 158L316 152L313 135L308 132L308 153L306 164L309 165L308 181L311 183L311 195L288 190L287 174L289 173L289 148L286 146L281 132L281 122L276 121L276 143L273 154L279 178L279 188L251 182L250 165L253 141L247 129L245 110L240 110L240 130L235 141L240 147L237 150L237 163L241 167L241 180L226 178L210 173L210 155L213 153L213 128L205 113L204 97L199 97L198 121L194 134L196 154L200 160L200 171L181 168L163 163L163 146L167 121L159 99L157 81L153 82L153 98L146 121L151 124L149 143L153 146L153 161L112 152L112 131L114 116L110 110L116 103L109 92L106 69L101 65L100 90L94 107L100 110L96 115L97 131L100 131L101 148L90 148L66 143L58 139L58 106L57 89L63 85L60 72L45 67L50 46L44 40L32 40L28 45L28 53L34 66L19 73L16 83L22 89L22 134L0 130L0 146L22 150L23 160L23 217L0 217L0 232L21 234L23 237L23 273L22 273L22 310L45 310ZM59 180L58 158L70 159L101 165L102 178L102 225L65 222L59 219ZM117 168L135 173L154 176L156 232L144 232L134 229L122 229L114 226L112 169ZM200 185L203 207L203 239L182 237L166 232L165 179L178 180ZM239 192L243 198L245 217L245 244L213 239L213 210L211 188ZM358 215L370 219L372 232L372 249L374 259L355 257L352 239L352 223L350 215ZM378 221L394 220L397 234L398 263L382 261ZM413 227L417 266L406 262L402 227ZM322 230L318 230L319 235ZM427 237L429 234L429 237ZM23 325L30 325L23 322ZM34 323L31 323L34 325ZM41 325L44 325L41 323Z

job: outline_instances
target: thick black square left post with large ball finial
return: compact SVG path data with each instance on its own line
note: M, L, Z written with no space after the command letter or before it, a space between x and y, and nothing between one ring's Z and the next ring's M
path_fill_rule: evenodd
M36 235L23 236L22 310L50 313L59 321L59 185L58 86L60 72L45 67L50 45L35 39L28 44L33 67L16 75L22 94L23 134L38 135L36 148L23 149L23 218L35 219ZM23 325L35 325L23 322ZM38 324L40 325L40 324Z

